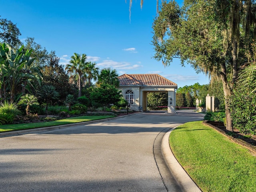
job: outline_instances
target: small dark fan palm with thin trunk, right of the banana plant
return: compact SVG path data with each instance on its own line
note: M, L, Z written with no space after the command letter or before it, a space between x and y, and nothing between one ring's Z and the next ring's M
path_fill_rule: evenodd
M48 105L52 99L58 99L60 94L58 91L55 90L55 87L52 85L44 85L42 86L40 90L40 96L43 98L43 100L46 102L45 111L46 114L48 112Z

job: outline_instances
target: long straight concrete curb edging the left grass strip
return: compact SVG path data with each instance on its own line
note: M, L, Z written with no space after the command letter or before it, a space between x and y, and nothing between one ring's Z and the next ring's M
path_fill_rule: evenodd
M139 113L142 113L142 112L128 114L125 116L136 115ZM0 138L10 137L10 136L18 136L18 135L24 135L24 134L30 134L30 133L45 132L45 131L56 130L56 129L64 129L64 128L68 128L70 126L81 126L81 125L94 124L94 123L98 123L98 122L109 121L109 120L120 118L120 117L124 117L124 116L100 119L100 120L92 120L92 121L86 121L86 122L80 122L80 123L72 123L72 124L66 124L66 125L58 125L58 126L52 126L52 127L42 127L42 128L26 129L26 130L19 130L19 131L2 132L2 133L0 133Z

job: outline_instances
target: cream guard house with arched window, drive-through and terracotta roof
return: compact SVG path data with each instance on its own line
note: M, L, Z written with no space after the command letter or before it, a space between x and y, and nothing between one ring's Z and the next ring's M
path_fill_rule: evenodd
M147 93L168 92L168 113L175 113L176 83L158 74L123 74L118 77L119 90L134 111L147 110Z

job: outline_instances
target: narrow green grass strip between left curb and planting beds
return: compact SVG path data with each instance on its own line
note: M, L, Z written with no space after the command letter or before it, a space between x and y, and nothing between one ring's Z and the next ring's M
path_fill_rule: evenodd
M50 122L0 125L0 132L17 131L17 130L33 129L33 128L41 128L41 127L50 127L50 126L65 125L65 124L71 124L71 123L80 123L80 122L106 119L106 118L112 118L112 117L115 117L115 116L112 116L112 115L78 116L78 117L70 117L70 118L56 120L56 121L50 121Z

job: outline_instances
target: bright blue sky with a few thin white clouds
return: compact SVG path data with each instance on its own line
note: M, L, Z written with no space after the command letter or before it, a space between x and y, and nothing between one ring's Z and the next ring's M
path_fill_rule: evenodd
M180 3L182 1L179 1ZM156 0L2 0L0 16L17 24L22 36L34 37L49 52L56 51L60 64L67 64L74 52L88 56L98 67L111 67L119 75L156 73L178 87L208 84L205 74L196 74L178 59L164 67L152 58L152 23Z

